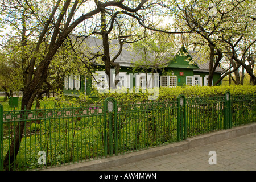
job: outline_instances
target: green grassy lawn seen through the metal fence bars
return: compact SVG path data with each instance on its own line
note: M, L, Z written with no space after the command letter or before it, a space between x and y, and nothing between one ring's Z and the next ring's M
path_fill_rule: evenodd
M233 103L232 126L256 121L255 98L251 97L247 101L242 99ZM223 98L199 101L195 99L186 105L188 137L224 129ZM175 103L118 105L118 153L176 142L177 107ZM49 101L44 107L53 108L54 105L55 102ZM153 107L148 109L150 105ZM26 122L26 130L23 133L25 136L20 144L16 166L10 168L26 170L44 167L38 164L39 151L46 152L47 166L58 166L104 156L102 106L41 111L44 111L42 118L38 115L40 110L31 111L32 116L37 114L38 118L31 117ZM80 112L76 113L76 111ZM48 115L52 112L55 112L53 117ZM113 122L108 121L108 118L112 117L112 115L106 115L108 154L114 150L112 143L114 142L114 125ZM4 122L4 137L13 135L14 125L18 125L18 122ZM6 138L3 143L4 154L6 154L11 139Z

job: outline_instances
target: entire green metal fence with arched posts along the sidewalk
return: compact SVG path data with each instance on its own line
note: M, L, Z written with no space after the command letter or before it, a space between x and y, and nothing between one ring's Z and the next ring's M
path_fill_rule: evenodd
M0 169L32 170L106 158L251 122L256 122L256 96L229 92L139 104L107 98L101 106L76 108L3 111L0 105Z

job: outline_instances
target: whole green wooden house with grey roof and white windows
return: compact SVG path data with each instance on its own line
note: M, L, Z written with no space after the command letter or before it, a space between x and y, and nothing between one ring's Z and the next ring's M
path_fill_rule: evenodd
M97 38L87 38L86 48L83 52L88 51L88 55L100 52L102 50L102 40ZM110 43L110 50L112 57L116 55L119 48L119 42L113 40ZM188 52L182 46L168 52L168 59L163 60L160 64L152 64L154 66L147 66L147 73L144 65L137 72L133 72L132 68L137 60L142 59L142 55L133 51L129 44L125 44L121 55L115 62L121 66L119 70L119 82L117 88L153 88L153 87L175 87L184 85L200 85L208 86L209 63L199 64L197 62L198 52ZM148 55L149 63L154 63L154 57ZM106 74L104 65L101 63L94 63L97 68L92 75L67 75L64 78L64 94L67 96L79 96L80 93L86 95L92 94L92 89L107 90L109 88L106 81ZM152 72L153 71L153 72ZM114 68L110 79L114 80ZM157 74L156 74L157 73ZM224 71L217 67L213 76L213 83L216 82Z

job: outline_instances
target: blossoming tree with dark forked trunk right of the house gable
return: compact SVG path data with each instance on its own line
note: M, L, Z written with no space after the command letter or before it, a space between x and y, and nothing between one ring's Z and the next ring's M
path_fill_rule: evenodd
M212 1L175 0L166 3L163 3L163 6L169 10L170 14L174 15L177 30L192 31L193 33L188 34L189 44L193 45L194 49L207 53L202 57L209 60L209 86L211 86L213 73L224 57L223 54L228 43L225 40L232 39L236 42L240 35L244 36L248 33L247 31L254 24L251 23L253 20L253 11L251 10L255 5L251 7L252 1L248 3L244 0L218 0L215 3ZM251 28L245 28L243 24L249 26L249 23L246 23L248 21L250 21ZM250 34L255 35L251 30ZM253 43L253 39L250 40ZM234 55L239 55L240 51L233 48L233 52ZM235 57L232 56L230 59L234 60ZM236 62L239 63L238 60Z

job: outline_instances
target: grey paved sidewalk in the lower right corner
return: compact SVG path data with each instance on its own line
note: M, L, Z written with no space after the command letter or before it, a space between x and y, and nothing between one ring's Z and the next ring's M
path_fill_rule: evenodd
M213 158L210 151L216 152L217 164L210 165ZM210 160L214 161L214 160ZM185 151L176 152L156 158L146 159L123 166L104 169L104 171L234 171L256 170L256 133L207 144Z

